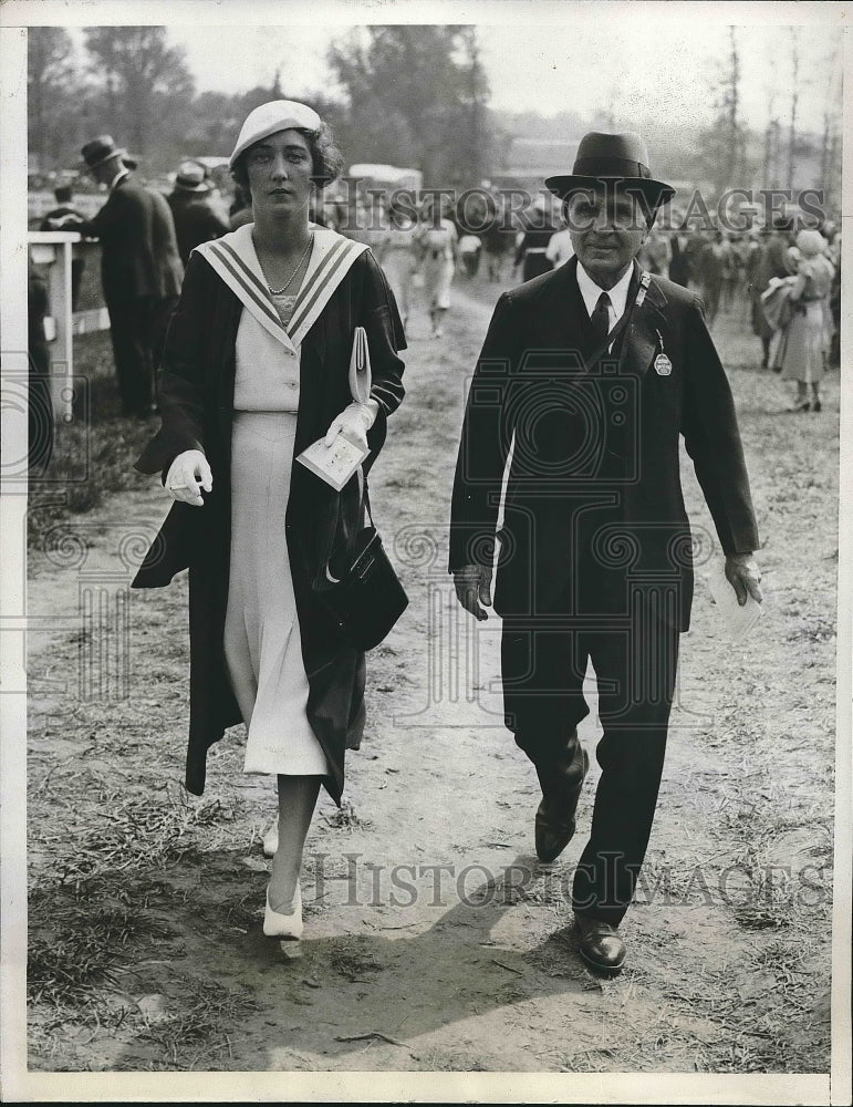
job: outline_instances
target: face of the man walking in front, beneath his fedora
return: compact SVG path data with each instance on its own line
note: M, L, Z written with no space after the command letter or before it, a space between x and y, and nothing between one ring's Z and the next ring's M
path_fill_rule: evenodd
M648 235L636 197L596 186L571 196L565 214L578 260L596 284L613 288Z

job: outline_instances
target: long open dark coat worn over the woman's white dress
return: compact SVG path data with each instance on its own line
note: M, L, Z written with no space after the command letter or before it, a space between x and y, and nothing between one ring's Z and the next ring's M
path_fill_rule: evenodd
M208 748L241 720L223 652L231 539L230 447L235 343L242 304L199 255L190 257L180 302L169 324L158 377L163 425L136 468L168 470L185 449L204 449L214 475L204 507L173 505L133 587L160 588L189 568L189 745L186 786L205 788ZM367 331L372 394L379 404L368 432L368 470L385 441L386 418L403 399L403 327L394 296L373 255L362 254L302 342L300 400L293 454L326 433L351 402L353 331ZM365 483L366 487L366 483ZM339 621L312 593L330 551L363 525L357 476L334 492L294 461L282 539L287 537L302 655L309 679L308 717L330 765L324 784L336 803L344 783L344 749L364 730L364 654L350 646ZM287 720L282 718L282 728Z

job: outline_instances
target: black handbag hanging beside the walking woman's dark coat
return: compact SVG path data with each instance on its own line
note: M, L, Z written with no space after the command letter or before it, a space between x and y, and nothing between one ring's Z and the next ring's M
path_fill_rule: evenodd
M314 582L314 591L357 650L378 645L408 607L366 499L365 506L371 525L332 554Z

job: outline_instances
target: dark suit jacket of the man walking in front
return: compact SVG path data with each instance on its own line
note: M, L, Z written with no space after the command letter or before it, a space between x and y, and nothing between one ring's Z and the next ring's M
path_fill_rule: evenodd
M724 552L758 548L728 381L694 293L652 277L634 307L636 263L624 337L585 368L594 340L576 267L573 258L506 292L495 309L462 427L450 570L491 563L514 439L498 614L610 618L630 614L637 594L657 596L658 615L687 630L693 554L679 435Z

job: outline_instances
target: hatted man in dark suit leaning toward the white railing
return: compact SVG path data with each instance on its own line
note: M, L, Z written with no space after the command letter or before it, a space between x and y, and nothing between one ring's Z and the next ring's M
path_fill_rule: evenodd
M166 198L136 184L126 152L110 135L93 138L82 153L89 173L110 196L94 219L76 229L101 240L122 413L145 418L156 410L154 372L184 279L175 224Z

